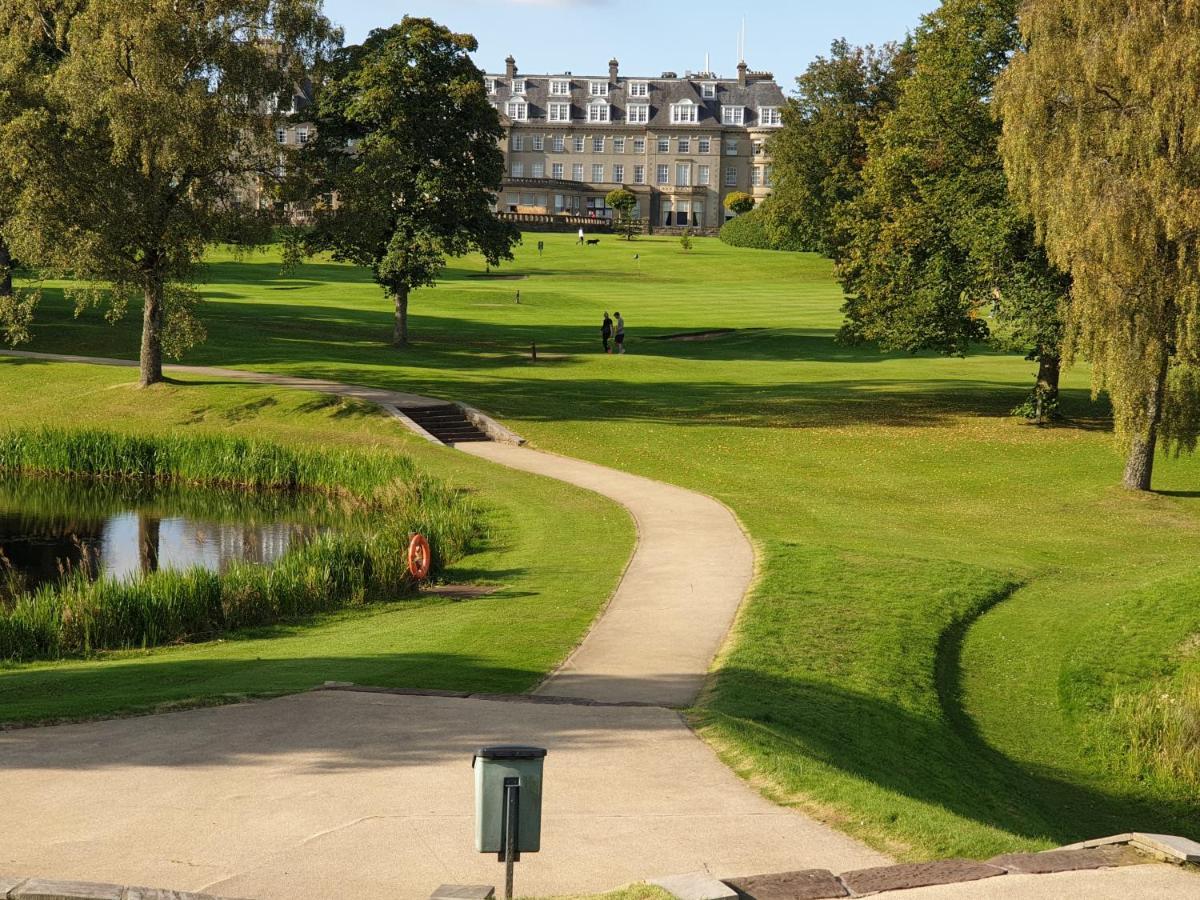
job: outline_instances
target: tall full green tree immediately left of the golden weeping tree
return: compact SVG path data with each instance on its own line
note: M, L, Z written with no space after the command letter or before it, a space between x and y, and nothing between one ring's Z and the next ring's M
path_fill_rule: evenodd
M895 108L869 136L860 196L839 208L850 342L965 354L989 338L1039 361L1028 408L1058 394L1069 281L1008 196L992 114L1019 46L1018 0L946 0L913 41ZM989 324L990 318L990 324Z

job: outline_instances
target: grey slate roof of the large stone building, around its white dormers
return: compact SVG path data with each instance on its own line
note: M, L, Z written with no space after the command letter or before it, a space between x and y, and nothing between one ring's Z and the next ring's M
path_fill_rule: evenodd
M500 113L505 113L505 107L509 100L512 98L512 84L509 82L506 74L487 74L487 78L494 79L496 92L490 95L491 101L499 107ZM721 127L721 107L722 106L742 106L745 109L745 119L743 127L755 127L758 121L758 107L782 107L786 102L782 89L774 80L754 80L755 76L750 76L750 83L745 88L738 86L738 80L736 78L708 78L706 76L690 76L684 78L626 78L620 77L617 79L616 84L610 83L608 76L551 76L551 74L521 74L516 76L517 80L524 79L526 91L520 97L523 97L529 106L529 121L546 122L548 126L556 125L625 125L625 109L630 103L646 103L650 104L650 120L648 124L643 122L630 122L630 125L636 125L637 127ZM565 82L571 83L570 97L566 96L551 96L550 83ZM602 82L608 84L608 96L607 97L593 97L590 94L592 82ZM630 97L629 85L634 82L647 83L649 85L648 97ZM702 96L701 85L715 83L716 84L716 96L706 98ZM571 121L570 122L551 122L550 121L550 104L562 103L570 100L571 103ZM588 103L592 100L607 101L611 107L610 115L612 116L610 122L588 122ZM684 100L690 100L698 107L696 122L686 125L672 125L671 122L671 106L673 103L680 103ZM731 126L725 126L731 127Z

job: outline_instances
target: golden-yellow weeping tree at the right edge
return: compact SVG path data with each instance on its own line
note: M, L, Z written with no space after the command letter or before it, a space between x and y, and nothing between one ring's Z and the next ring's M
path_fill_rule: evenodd
M1092 362L1151 487L1156 446L1200 433L1200 5L1030 0L997 88L1001 150L1050 258L1070 271L1068 359Z

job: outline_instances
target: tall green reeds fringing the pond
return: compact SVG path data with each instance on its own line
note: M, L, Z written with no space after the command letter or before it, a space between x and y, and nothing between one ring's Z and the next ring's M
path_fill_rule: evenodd
M306 491L358 506L353 530L324 534L274 565L239 563L221 574L162 570L134 578L68 572L56 584L18 592L0 605L0 659L12 661L205 640L403 598L418 588L406 559L412 533L430 539L431 577L481 534L480 510L466 494L394 454L40 428L0 434L0 473Z

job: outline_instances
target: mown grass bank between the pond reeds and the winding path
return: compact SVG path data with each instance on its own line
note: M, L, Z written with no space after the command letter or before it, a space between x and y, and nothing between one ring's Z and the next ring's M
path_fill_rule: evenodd
M133 372L104 366L0 368L0 414L13 427L72 422L131 436L244 436L300 452L404 457L484 516L484 538L448 560L442 580L496 588L473 601L385 600L192 644L0 665L4 722L227 702L325 680L527 690L580 640L632 548L632 523L604 498L428 445L368 404L210 379L142 391Z

